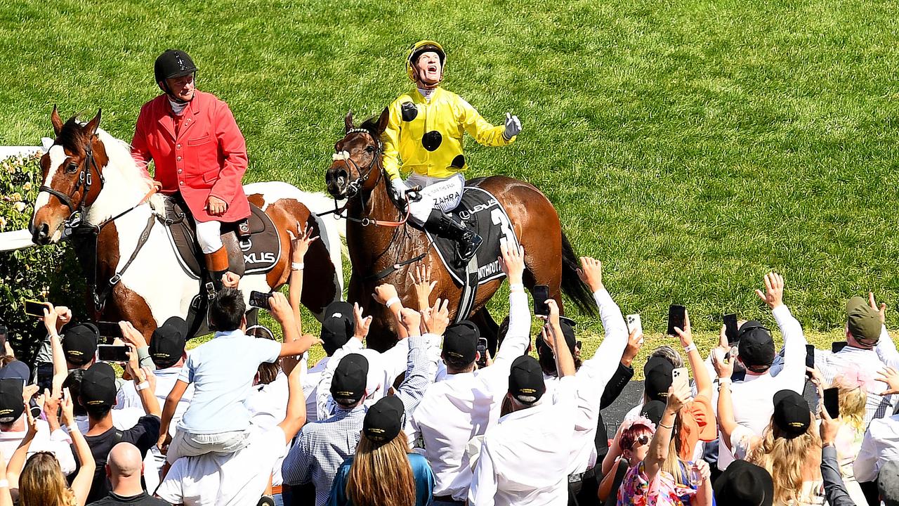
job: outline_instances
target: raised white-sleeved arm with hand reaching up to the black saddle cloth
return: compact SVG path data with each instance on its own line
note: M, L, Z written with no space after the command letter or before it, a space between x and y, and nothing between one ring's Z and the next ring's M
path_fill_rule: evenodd
M494 365L511 367L516 357L521 357L530 344L530 307L524 292L524 247L500 245L500 267L509 279L509 330L503 344L496 351ZM506 373L508 375L508 372Z

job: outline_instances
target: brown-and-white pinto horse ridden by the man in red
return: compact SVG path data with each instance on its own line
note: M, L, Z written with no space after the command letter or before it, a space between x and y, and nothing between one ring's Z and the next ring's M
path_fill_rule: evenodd
M111 285L108 299L94 308L93 316L130 321L149 340L169 317L187 318L191 300L200 293L200 279L181 267L167 237L167 197L154 192L153 181L131 158L129 145L99 128L100 112L90 122L78 122L73 116L64 124L54 107L50 121L56 139L40 158L43 185L29 224L32 240L49 244L58 242L67 228L93 228L97 234L95 278ZM305 258L301 302L321 319L327 304L343 293L340 237L334 226L310 212L304 204L313 200L307 198L310 194L287 183L246 185L245 193L274 222L283 252L269 272L241 278L239 288L245 299L250 290L269 292L287 283L288 230L296 235L308 222L320 240L312 243ZM155 219L156 226L151 227ZM141 247L142 235L146 241ZM80 259L83 265L92 260ZM106 282L126 265L117 283Z

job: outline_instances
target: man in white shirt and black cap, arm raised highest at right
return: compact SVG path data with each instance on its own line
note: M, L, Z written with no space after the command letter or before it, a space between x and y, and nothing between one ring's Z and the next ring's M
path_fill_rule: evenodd
M774 320L784 339L783 368L778 375L771 375L770 367L776 351L774 339L768 329L758 321L747 321L738 330L739 355L737 360L746 369L743 381L731 385L734 400L734 419L737 424L752 431L755 436L762 432L774 413L774 394L781 390L792 390L802 395L806 386L806 337L802 326L783 303L784 280L776 273L765 276L765 292L756 290L761 300L769 305ZM718 439L718 469L724 471L734 461L734 454Z

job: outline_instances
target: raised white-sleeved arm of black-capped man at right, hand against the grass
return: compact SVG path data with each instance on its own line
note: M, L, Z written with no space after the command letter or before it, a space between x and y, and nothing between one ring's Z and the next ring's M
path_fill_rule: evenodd
M784 368L778 377L790 381L793 390L799 389L798 393L801 394L806 377L806 336L803 335L802 325L783 303L783 276L771 272L765 275L764 281L765 292L756 290L755 293L771 308L771 315L778 322L784 339Z

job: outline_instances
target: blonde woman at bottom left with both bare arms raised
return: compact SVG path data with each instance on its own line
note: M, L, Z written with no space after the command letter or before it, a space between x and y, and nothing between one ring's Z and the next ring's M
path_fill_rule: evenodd
M20 506L84 506L87 502L87 493L91 491L96 464L91 448L87 446L87 441L75 422L72 398L67 390L61 405L62 421L68 428L81 466L69 488L66 476L62 474L62 469L53 454L38 452L25 462L31 440L38 432L37 422L31 416L31 411L26 409L28 432L10 458L7 474L10 487L18 488Z

